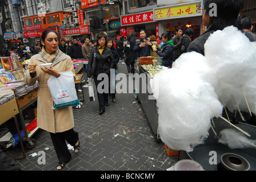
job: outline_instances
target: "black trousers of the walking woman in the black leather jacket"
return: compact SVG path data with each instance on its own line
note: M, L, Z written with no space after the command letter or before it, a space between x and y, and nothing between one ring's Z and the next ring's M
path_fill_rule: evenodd
M94 82L95 82L95 85L96 85L96 89L97 89L97 96L98 96L98 101L99 101L99 110L103 110L105 111L105 104L109 103L109 93L99 93L98 92L98 85L99 83L103 81L103 78L102 80L97 80L97 76L94 76ZM109 76L109 81L110 81L110 76ZM109 84L107 85L109 87ZM102 85L102 89L104 90L104 85ZM107 88L107 90L109 90L109 88Z

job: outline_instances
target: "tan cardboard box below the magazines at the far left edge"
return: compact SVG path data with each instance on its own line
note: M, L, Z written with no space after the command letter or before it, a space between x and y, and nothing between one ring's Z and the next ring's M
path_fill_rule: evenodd
M14 117L19 113L18 105L15 98L4 105L0 106L0 125Z

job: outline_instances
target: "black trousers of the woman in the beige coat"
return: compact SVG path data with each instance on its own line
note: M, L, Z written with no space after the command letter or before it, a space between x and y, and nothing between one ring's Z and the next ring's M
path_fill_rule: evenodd
M71 159L71 154L67 148L66 141L75 146L78 141L78 133L73 129L63 131L62 133L50 133L53 146L57 154L58 160L61 163L68 162Z

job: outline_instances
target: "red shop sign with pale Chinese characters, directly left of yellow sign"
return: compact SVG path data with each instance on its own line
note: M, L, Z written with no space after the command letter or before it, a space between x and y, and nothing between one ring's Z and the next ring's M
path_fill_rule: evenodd
M127 26L129 24L135 23L145 23L145 22L152 22L154 19L153 11L141 13L141 14L134 14L134 15L126 15L121 16L121 24L122 26Z

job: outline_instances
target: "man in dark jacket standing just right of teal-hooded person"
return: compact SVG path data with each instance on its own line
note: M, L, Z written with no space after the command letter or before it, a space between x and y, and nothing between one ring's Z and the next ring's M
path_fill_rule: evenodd
M173 38L171 38L171 40L173 40L173 59L174 61L181 55L181 39L182 39L182 27L177 27L176 31L175 31L175 35L173 36Z

